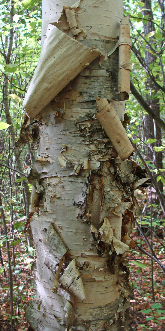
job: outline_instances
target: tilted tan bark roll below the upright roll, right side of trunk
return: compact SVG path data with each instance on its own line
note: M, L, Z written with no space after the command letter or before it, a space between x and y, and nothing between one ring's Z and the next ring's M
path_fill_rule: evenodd
M96 107L99 112L96 114L96 117L111 139L119 157L124 161L133 153L134 148L129 141L112 103L109 104L107 99L96 97Z

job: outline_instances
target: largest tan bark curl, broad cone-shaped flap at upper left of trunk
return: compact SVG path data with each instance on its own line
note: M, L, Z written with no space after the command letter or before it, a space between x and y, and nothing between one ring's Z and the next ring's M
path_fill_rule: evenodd
M34 118L100 53L49 24L36 71L23 101L27 115Z

